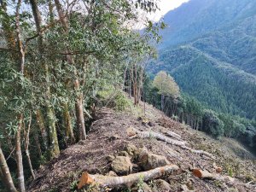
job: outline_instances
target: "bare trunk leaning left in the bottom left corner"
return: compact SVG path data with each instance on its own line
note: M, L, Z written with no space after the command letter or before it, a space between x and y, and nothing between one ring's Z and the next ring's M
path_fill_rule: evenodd
M7 191L17 192L13 178L11 177L11 174L9 172L9 166L7 165L6 160L4 158L1 144L0 144L0 173Z

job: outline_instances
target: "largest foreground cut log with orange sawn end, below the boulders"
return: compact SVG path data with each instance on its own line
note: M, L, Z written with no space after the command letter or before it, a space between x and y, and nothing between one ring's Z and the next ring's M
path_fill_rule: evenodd
M84 172L80 178L78 189L82 189L84 185L94 185L101 189L103 188L119 188L122 186L131 186L143 181L148 181L154 178L159 178L164 175L171 174L173 171L177 171L179 168L176 165L161 166L148 172L137 172L122 177L110 177L102 175L90 175L88 172Z

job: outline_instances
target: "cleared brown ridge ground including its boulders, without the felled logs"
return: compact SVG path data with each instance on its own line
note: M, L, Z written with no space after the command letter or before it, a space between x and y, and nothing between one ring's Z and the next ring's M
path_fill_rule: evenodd
M102 108L90 127L88 139L63 150L58 158L42 166L29 191L79 191L83 172L119 177L166 165L176 165L178 169L145 183L143 177L139 178L126 189L117 186L103 191L256 191L255 159L239 143L214 140L167 118L148 104L145 107L146 113L137 115ZM132 130L149 131L152 136L139 137ZM180 137L172 137L168 131ZM186 148L206 151L213 158L166 143L153 137L154 132L185 142ZM195 171L207 172L211 177L198 177ZM98 189L85 186L80 191Z

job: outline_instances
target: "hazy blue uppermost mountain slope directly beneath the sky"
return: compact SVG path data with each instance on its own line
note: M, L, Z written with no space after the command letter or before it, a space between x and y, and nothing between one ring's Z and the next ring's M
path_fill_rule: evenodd
M164 17L168 27L163 31L160 48L181 44L214 32L230 23L255 15L254 0L190 0Z

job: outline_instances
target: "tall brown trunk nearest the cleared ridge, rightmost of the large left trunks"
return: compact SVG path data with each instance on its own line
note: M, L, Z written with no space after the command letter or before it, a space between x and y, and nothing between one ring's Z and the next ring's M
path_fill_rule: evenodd
M67 24L67 17L64 14L64 11L62 9L61 3L59 0L55 0L55 7L57 9L59 18L61 20L61 25L63 26L65 32L68 32L68 24ZM66 49L68 53L68 49ZM73 57L72 55L67 54L67 62L74 65ZM79 128L79 133L80 133L80 139L86 139L86 131L85 131L85 125L84 125L84 105L83 105L83 100L84 96L80 90L80 82L79 82L79 77L77 74L77 71L74 70L74 77L75 79L73 80L73 85L74 85L74 90L77 93L77 98L76 98L76 119L77 119L77 126Z

